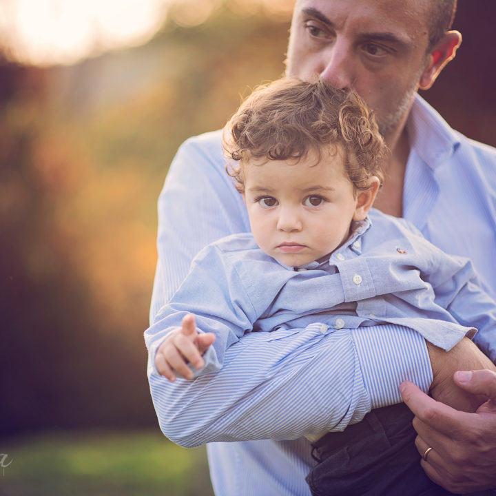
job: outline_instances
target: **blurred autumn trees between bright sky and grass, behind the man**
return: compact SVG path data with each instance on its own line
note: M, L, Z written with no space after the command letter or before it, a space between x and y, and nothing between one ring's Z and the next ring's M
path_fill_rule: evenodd
M459 1L462 49L424 94L492 145L495 55L480 37L495 5ZM185 138L282 74L288 29L220 10L70 67L0 60L1 435L156 425L143 342L156 199Z

